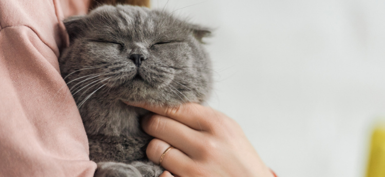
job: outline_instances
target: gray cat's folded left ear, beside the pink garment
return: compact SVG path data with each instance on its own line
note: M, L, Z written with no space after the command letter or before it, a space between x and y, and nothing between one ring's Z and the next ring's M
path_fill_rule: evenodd
M63 21L64 26L66 27L69 41L72 41L83 34L84 29L87 27L85 23L84 16L71 16Z

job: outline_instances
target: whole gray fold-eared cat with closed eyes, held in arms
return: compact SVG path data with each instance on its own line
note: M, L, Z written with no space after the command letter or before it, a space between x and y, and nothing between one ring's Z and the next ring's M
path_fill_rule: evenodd
M146 158L151 137L139 125L148 111L126 102L202 103L211 64L202 45L210 32L161 10L102 6L66 19L70 46L60 71L87 132L94 176L159 176Z

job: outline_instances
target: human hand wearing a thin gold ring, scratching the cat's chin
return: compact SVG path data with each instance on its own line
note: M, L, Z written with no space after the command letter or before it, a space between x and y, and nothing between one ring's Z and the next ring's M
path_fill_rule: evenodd
M132 105L132 104L130 104ZM188 103L175 108L132 105L154 112L143 117L145 132L156 137L148 158L178 176L272 177L240 126L210 107ZM167 171L161 177L172 176Z

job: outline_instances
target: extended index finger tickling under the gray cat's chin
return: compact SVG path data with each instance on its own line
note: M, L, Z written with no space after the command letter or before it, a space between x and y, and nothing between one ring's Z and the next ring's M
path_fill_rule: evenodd
M209 130L210 125L215 121L212 118L217 117L218 111L213 108L204 107L196 103L187 103L177 107L160 107L148 104L132 104L132 106L141 107L151 112L155 112L166 117L170 117L196 130Z

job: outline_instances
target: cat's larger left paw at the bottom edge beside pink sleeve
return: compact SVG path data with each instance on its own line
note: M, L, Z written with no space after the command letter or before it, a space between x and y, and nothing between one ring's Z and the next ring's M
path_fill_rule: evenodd
M94 177L142 177L132 165L116 162L100 162Z

